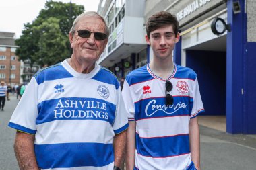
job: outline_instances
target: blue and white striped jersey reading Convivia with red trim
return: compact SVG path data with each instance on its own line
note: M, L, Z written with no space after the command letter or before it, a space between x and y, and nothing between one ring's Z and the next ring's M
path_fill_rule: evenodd
M123 99L129 121L136 122L135 169L183 170L193 167L189 148L189 120L203 112L196 73L174 65L172 105L165 105L166 80L149 65L135 69L125 79Z

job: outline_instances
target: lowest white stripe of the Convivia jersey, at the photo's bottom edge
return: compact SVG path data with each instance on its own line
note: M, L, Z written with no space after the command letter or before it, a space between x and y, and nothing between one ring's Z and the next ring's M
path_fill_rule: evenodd
M137 153L137 150L135 151L135 166L138 167L139 170L162 169L162 167L165 167L168 170L185 170L190 163L190 153L175 157L152 158L143 157ZM170 167L170 165L172 165L172 167Z

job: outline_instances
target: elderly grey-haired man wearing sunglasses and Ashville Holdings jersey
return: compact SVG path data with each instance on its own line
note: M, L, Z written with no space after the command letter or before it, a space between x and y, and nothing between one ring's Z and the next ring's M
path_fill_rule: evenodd
M120 169L127 113L119 81L96 63L108 34L98 13L79 15L71 58L30 81L9 122L20 169Z

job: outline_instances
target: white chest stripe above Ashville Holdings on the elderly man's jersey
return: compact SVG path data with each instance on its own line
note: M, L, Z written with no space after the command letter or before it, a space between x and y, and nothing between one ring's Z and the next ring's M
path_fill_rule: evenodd
M53 83L54 82L54 83ZM75 82L75 88L73 85ZM55 85L63 85L64 91L61 93L55 93ZM105 85L108 87L110 96L107 99L101 97L98 93L99 85ZM48 89L44 91L44 89ZM84 79L79 79L76 77L57 79L53 81L44 81L38 85L38 103L48 99L59 99L62 97L86 97L86 98L95 98L95 99L104 99L110 103L117 103L115 101L115 94L117 90L115 89L115 85L110 85L103 82L98 82L93 79L86 80L84 83ZM73 95L75 94L75 96Z

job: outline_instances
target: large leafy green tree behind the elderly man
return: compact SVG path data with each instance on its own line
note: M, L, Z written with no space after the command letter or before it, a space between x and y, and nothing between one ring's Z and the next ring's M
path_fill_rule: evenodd
M71 54L69 30L73 20L84 12L84 6L72 3L47 1L32 22L24 24L22 36L15 40L19 46L19 60L37 62L41 66L53 65Z

